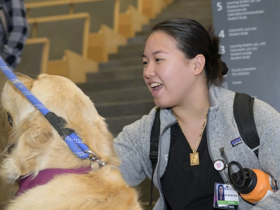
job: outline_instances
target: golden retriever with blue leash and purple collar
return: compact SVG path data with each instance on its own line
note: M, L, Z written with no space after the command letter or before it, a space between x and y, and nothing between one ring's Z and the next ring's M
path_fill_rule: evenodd
M41 74L35 80L25 75L18 78L43 105L67 121L67 127L105 167L76 157L43 114L8 81L2 102L11 116L9 146L13 146L1 167L6 182L26 175L35 177L45 169L91 168L84 174L55 175L46 184L15 196L6 210L141 210L138 192L125 183L118 170L119 159L105 119L90 99L65 77Z

